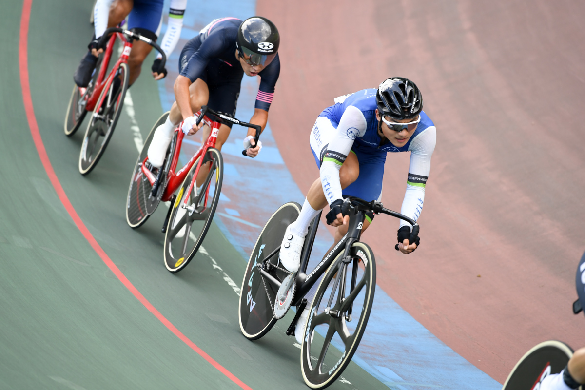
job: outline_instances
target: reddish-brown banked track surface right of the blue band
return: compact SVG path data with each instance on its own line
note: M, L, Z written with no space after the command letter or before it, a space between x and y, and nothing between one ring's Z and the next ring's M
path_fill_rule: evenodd
M397 223L378 218L363 237L378 287L500 382L542 340L583 346L571 303L585 248L585 3L259 0L257 9L283 36L270 123L305 194L318 177L309 132L333 98L392 76L422 90L437 144L421 247L395 252ZM388 156L383 201L393 209L407 170L407 153Z

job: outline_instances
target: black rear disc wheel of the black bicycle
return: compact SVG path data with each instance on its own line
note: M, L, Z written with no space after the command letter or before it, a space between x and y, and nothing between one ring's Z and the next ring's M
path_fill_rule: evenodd
M255 264L258 260L264 260L260 257L262 253L270 254L277 247L280 247L287 226L297 219L300 212L301 205L296 202L288 202L280 206L270 216L270 219L260 232L256 244L254 244L244 272L238 308L240 330L246 339L260 339L260 337L269 332L277 321L270 305L274 303L278 289L271 291L272 296L267 295L267 289L264 287L260 272L256 272L257 267ZM269 263L278 263L278 253L269 260ZM288 274L278 271L276 268L273 270L273 276L280 280L288 276ZM268 288L270 289L270 287Z

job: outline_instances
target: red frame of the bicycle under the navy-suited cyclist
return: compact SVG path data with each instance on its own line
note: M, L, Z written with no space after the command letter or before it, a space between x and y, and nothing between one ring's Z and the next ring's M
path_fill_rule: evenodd
M198 116L200 113L201 113L201 111L197 112L195 114L195 116ZM171 166L168 170L167 187L164 189L164 193L163 193L163 196L161 197L161 201L163 201L163 202L170 201L174 192L177 191L177 189L180 187L181 183L183 183L183 181L185 180L185 177L187 177L187 172L189 172L191 170L191 167L193 166L193 164L195 164L195 161L197 161L197 158L199 158L201 156L205 156L205 153L207 153L207 150L210 147L215 147L215 142L218 138L218 133L219 133L219 126L221 126L221 123L215 122L215 121L209 119L207 116L204 116L203 120L205 122L205 125L209 126L209 128L211 129L211 131L209 132L209 137L207 137L207 140L201 144L201 147L199 147L199 150L197 150L197 153L195 153L193 155L193 157L191 157L191 160L189 160L188 163L185 164L185 166L183 168L181 168L181 170L178 172L175 172L175 170L177 169L177 163L179 161L179 154L181 153L181 145L183 144L183 137L185 136L185 134L181 131L181 125L183 122L181 122L181 125L179 125L179 127L175 130L176 132L178 132L177 146L175 147L175 150L173 153L173 160L171 160ZM142 167L141 167L142 173L149 180L150 185L154 185L154 182L156 181L156 177L154 177L152 172L150 172L146 168L145 163L147 160L148 160L148 157L144 158L144 161L142 161ZM199 163L197 164L197 169L195 170L195 175L193 177L193 180L191 181L191 184L189 186L187 194L189 194L191 192L191 190L193 189L193 184L194 184L195 180L197 179L197 175L199 174L199 170L201 169L201 165L203 164L203 160L204 159L201 158L199 160ZM205 205L207 205L208 195L209 195L209 187L207 187L207 191L205 192ZM188 201L188 196L185 196L185 205L187 205L187 201Z

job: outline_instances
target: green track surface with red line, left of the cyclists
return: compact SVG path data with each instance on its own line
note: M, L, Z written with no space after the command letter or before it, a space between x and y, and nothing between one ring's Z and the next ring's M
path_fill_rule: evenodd
M161 113L152 55L129 89L133 110L127 95L104 157L79 174L87 119L67 138L63 118L91 4L14 1L0 16L0 388L306 388L283 329L294 313L255 343L240 333L246 263L218 226L174 275L162 258L166 208L126 225L135 141ZM353 363L343 375L351 381L331 388L387 388Z

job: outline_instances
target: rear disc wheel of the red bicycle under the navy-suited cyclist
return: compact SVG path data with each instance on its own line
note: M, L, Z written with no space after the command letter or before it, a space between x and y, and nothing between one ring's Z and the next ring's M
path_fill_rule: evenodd
M171 163L169 156L173 156L174 148L177 144L177 133L174 134L173 140L171 140L168 146L167 155L161 167L163 169L163 176L161 177L161 183L159 184L159 189L157 189L156 196L152 196L152 185L150 185L150 181L143 175L141 167L144 158L148 156L148 148L154 137L154 131L167 120L168 113L169 111L165 112L154 123L152 130L150 130L146 140L144 140L142 151L140 151L136 164L134 165L134 170L132 171L132 177L130 177L128 198L126 200L126 222L128 222L128 226L132 227L132 229L144 225L149 216L156 210L160 203L160 198L164 194ZM150 170L156 177L158 174L157 168L151 167Z

